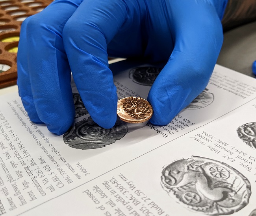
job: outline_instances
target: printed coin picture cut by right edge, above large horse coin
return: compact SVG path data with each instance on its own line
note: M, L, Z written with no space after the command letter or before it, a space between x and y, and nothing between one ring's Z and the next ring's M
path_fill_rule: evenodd
M236 129L239 138L251 148L256 149L256 122L250 122Z

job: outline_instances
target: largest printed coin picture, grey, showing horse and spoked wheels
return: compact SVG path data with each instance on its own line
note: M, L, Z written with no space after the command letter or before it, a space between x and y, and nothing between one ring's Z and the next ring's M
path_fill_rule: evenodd
M161 185L169 196L187 208L209 215L226 215L249 203L251 186L229 165L192 156L163 168Z

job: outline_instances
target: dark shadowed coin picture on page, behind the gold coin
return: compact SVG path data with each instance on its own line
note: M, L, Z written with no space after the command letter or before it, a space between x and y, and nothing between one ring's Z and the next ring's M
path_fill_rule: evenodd
M155 67L134 68L129 72L129 78L137 84L152 86L161 70L161 68Z

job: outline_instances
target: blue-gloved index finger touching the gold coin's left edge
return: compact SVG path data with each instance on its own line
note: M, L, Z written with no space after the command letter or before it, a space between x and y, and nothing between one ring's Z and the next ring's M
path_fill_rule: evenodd
M104 128L117 119L117 93L107 45L127 16L125 1L86 0L65 24L63 42L83 103Z

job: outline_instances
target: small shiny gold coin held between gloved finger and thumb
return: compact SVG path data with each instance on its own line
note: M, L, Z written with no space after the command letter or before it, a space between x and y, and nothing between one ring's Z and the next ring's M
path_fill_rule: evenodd
M142 123L152 117L153 109L141 97L125 97L117 101L117 115L128 123Z

